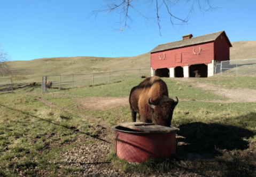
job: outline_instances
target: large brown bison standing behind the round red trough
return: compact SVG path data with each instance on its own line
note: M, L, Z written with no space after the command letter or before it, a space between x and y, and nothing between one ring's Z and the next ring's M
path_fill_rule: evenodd
M169 98L167 85L158 76L146 78L130 92L129 103L131 118L136 122L154 123L170 126L173 110L179 102Z

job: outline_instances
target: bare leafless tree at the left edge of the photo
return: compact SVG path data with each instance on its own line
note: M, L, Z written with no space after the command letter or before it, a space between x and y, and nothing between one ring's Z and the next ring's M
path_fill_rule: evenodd
M0 45L0 76L11 74L11 67L7 65L7 61L11 61L11 58Z

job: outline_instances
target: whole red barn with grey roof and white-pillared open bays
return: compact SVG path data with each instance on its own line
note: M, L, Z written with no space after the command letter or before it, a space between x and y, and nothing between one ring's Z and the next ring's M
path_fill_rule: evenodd
M151 76L201 77L214 75L215 62L229 60L232 47L225 31L160 44L151 51Z

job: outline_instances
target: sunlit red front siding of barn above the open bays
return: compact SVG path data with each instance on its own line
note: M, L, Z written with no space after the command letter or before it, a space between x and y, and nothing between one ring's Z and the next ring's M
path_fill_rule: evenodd
M199 47L201 48L200 53ZM196 54L193 53L193 49L195 49L194 51ZM201 63L211 63L213 59L214 42L210 42L151 53L151 67L155 70L158 68L175 68L177 66L184 67Z

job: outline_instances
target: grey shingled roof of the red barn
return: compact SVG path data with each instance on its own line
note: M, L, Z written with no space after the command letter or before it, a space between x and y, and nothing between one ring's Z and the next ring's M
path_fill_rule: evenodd
M200 44L200 43L212 42L212 41L215 41L215 39L217 37L219 37L222 33L224 34L224 37L226 38L229 46L232 47L225 31L223 30L223 31L219 31L219 32L215 32L215 33L211 33L211 34L207 34L207 35L192 37L192 38L187 39L187 40L180 40L180 41L174 41L174 42L170 42L170 43L160 44L150 52L153 53L153 52L159 52L159 51L164 51L164 50L169 50L169 49L175 49L175 48L178 48L178 47L184 47L184 46L195 45L195 44Z

